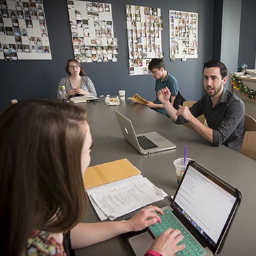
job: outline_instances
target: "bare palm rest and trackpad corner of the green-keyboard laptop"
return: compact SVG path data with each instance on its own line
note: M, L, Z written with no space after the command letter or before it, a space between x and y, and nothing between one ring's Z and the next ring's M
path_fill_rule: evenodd
M144 256L146 251L149 250L154 239L151 233L146 231L145 233L129 237L127 240L136 256Z

